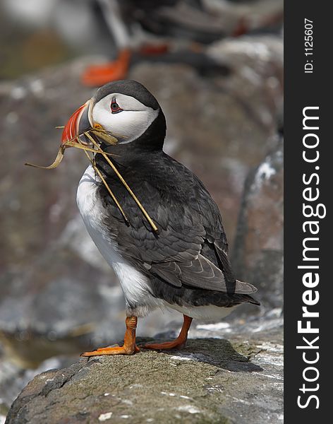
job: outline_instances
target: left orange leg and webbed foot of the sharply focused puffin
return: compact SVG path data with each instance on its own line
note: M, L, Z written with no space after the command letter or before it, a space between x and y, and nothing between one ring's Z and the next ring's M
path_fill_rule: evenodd
M135 344L135 329L137 323L137 317L126 318L126 331L123 338L123 346L99 348L96 351L81 353L81 356L133 355L133 353L139 352L140 349Z

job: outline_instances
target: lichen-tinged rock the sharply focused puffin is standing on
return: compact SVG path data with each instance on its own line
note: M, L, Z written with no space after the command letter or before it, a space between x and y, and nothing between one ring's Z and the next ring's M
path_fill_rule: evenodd
M82 359L44 372L14 401L6 424L281 423L281 319L241 328L198 326L190 334L201 338L182 351ZM226 334L230 340L211 338Z

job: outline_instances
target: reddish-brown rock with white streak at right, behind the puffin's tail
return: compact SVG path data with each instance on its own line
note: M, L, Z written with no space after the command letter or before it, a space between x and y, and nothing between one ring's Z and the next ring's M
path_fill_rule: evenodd
M233 264L268 309L283 304L283 140L246 181Z

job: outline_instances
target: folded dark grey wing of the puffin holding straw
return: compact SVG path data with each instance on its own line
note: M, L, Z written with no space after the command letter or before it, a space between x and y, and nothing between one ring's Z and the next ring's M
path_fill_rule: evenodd
M176 175L175 167L178 168L178 175L183 175L181 180L169 189L162 189L163 184L168 182L168 176L171 173ZM226 256L228 244L219 209L200 180L171 158L166 158L166 163L159 168L158 173L155 169L155 175L159 175L163 182L159 188L152 184L149 176L140 180L137 174L132 175L130 172L125 177L157 224L158 234L152 232L150 225L138 213L138 206L121 184L114 179L110 181L116 197L122 199L124 210L130 217L129 226L123 224L109 194L101 187L108 211L105 223L112 228L112 237L116 238L123 256L135 264L147 264L150 266L150 269L146 269L148 274L155 274L176 287L185 284L228 292L227 280L233 282L234 293L254 293L252 285L236 281L232 274ZM108 223L109 219L111 221ZM117 222L119 225L116 225ZM202 254L207 243L216 247L221 261L217 261L214 249L210 247L210 252Z

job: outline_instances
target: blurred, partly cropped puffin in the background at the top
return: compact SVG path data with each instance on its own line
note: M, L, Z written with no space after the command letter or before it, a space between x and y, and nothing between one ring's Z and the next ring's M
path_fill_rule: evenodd
M254 3L258 7L251 16ZM228 75L229 69L208 56L205 46L226 36L275 31L283 18L281 1L276 0L95 0L94 4L117 57L89 66L82 76L87 86L126 78L129 66L143 59L188 64L204 76Z

